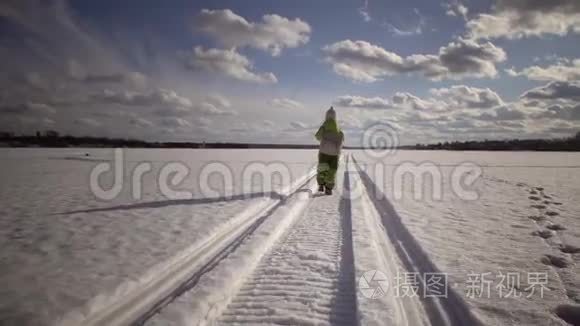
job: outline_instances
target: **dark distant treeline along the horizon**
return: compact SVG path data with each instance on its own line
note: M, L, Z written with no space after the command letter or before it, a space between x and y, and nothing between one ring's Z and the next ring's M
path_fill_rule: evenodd
M316 149L316 144L251 144L228 142L147 142L137 139L61 136L55 131L36 135L14 135L0 132L0 147L135 147L135 148L280 148ZM362 147L345 146L347 149ZM511 139L401 146L401 149L461 151L580 151L580 132L562 139Z

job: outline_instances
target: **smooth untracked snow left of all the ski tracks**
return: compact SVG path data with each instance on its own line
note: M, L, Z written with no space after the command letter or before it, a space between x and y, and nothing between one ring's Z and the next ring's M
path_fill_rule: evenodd
M233 192L238 193L241 169L271 152L126 150L125 185L137 163L154 166L143 178L139 201L131 197L129 186L111 201L91 193L90 171L112 160L110 149L2 149L0 156L1 324L43 325L67 313L98 310L263 201L248 197L206 203L198 195L196 173L207 162L227 162L237 178ZM284 151L277 157L290 162L295 178L314 159L304 151ZM293 164L297 158L303 159ZM190 168L191 177L179 188L192 191L193 199L167 199L160 192L156 177L167 162Z

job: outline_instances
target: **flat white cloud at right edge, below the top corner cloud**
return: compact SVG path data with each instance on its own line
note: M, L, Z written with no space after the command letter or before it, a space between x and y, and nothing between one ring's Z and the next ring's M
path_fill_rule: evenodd
M531 66L516 71L515 69L507 69L507 74L515 76L524 76L530 80L539 81L574 81L580 80L580 59L575 59L570 62L559 61L554 65L547 67Z

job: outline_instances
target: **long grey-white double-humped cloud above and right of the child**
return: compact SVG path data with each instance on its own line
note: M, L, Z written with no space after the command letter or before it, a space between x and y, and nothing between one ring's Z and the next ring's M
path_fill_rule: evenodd
M441 47L437 55L404 58L366 41L344 40L325 46L323 51L335 73L359 82L400 74L419 74L431 80L495 77L495 64L506 59L503 49L490 42L464 39Z

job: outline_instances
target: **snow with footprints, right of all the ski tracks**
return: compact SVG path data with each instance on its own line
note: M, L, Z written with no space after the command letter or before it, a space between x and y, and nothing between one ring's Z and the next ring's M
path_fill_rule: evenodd
M362 153L355 156L372 175L376 162ZM402 198L391 203L459 294L468 293L469 274L489 273L491 290L481 298L465 299L479 319L486 325L565 325L554 309L580 303L580 255L567 253L580 247L580 154L400 151L386 164L381 162L385 172L375 182L388 198L395 198L394 169L401 162L426 161L441 166L443 199L416 200L412 182L406 179ZM449 176L463 162L475 162L483 169L475 185L477 200L462 200L450 191ZM428 183L424 188L431 193ZM538 204L545 208L536 208ZM550 231L550 225L565 230ZM551 238L537 236L538 230L548 230ZM547 261L551 256L562 258L567 266L554 266ZM522 297L500 297L497 275L508 272L521 275ZM548 274L543 297L528 298L529 292L524 291L530 272Z

